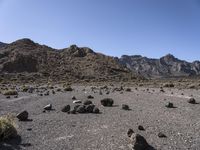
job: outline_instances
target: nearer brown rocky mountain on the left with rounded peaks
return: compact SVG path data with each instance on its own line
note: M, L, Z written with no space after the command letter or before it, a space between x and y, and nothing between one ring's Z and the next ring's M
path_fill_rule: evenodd
M72 45L53 49L30 39L0 48L0 75L10 80L126 81L140 78L110 56Z

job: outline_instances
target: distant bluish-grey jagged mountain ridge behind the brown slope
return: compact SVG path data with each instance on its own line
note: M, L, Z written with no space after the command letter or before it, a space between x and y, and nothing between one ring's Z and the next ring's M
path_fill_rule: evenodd
M145 77L177 77L200 74L200 62L187 62L168 54L160 59L151 59L140 55L123 55L119 62L132 71Z

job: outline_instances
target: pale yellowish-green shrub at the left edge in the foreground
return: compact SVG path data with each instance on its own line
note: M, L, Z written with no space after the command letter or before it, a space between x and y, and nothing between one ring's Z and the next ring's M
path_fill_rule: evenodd
M0 141L17 136L16 124L14 117L7 115L0 117Z

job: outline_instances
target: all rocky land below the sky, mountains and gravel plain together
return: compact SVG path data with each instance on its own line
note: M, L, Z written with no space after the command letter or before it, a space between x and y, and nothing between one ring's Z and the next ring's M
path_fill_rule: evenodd
M199 64L0 44L0 150L199 150Z

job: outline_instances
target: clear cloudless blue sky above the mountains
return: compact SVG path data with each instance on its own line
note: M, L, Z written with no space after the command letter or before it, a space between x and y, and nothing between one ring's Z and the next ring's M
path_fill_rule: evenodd
M200 60L200 0L0 0L0 41Z

